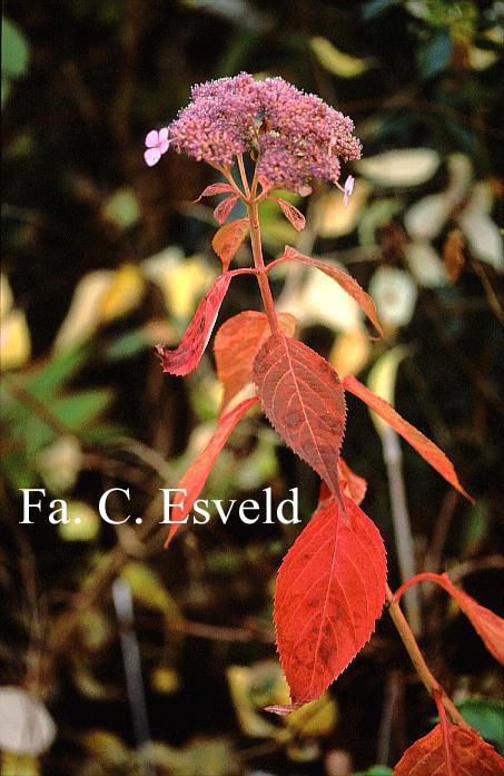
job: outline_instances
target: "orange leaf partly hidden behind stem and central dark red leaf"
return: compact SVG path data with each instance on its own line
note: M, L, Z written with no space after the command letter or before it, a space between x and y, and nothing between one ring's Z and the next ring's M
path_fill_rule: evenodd
M296 320L289 313L278 315L286 334L294 334ZM247 310L224 323L214 343L217 375L224 384L224 409L251 381L254 358L263 342L270 335L264 313Z

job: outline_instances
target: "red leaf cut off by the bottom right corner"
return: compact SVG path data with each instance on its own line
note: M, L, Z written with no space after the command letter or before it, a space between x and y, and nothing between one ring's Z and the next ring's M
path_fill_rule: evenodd
M475 730L447 721L447 738L453 776L504 776L504 759ZM452 776L439 724L405 752L394 776Z

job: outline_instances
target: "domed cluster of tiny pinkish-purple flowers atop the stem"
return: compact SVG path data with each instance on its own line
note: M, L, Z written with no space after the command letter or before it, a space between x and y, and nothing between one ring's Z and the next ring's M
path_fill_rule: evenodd
M360 157L353 131L348 117L283 78L240 73L194 87L168 137L175 150L217 167L251 151L265 188L306 195L314 178L338 184L338 157Z

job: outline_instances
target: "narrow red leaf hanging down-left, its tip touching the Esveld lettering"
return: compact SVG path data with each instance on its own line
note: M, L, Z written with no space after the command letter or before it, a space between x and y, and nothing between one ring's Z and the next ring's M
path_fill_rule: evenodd
M258 396L251 396L251 399L246 399L240 404L237 404L230 412L226 413L219 419L219 424L210 441L208 442L205 450L198 455L196 461L191 463L187 472L184 474L182 479L178 483L177 488L179 490L186 490L187 495L176 494L176 498L181 498L181 501L176 507L171 508L170 520L178 520L179 523L184 518L189 514L192 505L200 494L208 475L216 462L220 451L229 439L233 429L238 423L239 420L245 415L247 410L249 410L256 402ZM175 534L179 529L179 524L171 523L168 533L168 539L165 542L165 547L174 539Z

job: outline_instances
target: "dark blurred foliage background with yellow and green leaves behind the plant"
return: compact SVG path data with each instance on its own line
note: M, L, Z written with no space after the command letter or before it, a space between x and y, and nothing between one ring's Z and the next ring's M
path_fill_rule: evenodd
M391 587L409 557L503 615L503 42L497 1L4 0L2 774L389 774L428 729L432 704L387 621L314 707L261 710L287 699L271 595L298 528L213 521L161 549L158 489L201 449L220 394L211 348L181 381L152 346L178 342L219 259L211 208L191 204L213 170L170 153L148 169L144 137L192 84L241 70L353 117L364 158L347 170L348 209L320 186L294 200L308 218L297 235L266 204L264 240L269 257L287 242L346 267L386 336L373 343L324 275L289 265L274 291L304 341L388 396L476 498L401 455L349 399L344 454L368 480ZM237 278L220 321L249 307L256 288ZM253 416L207 493L260 499L269 485L277 501L299 485L309 518L315 475ZM47 491L31 525L20 488ZM109 488L130 488L129 523L99 518ZM61 498L71 522L50 524ZM122 519L121 494L109 503ZM421 593L434 672L503 752L496 664L445 593Z

